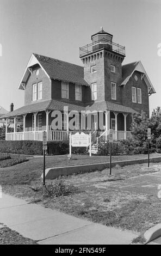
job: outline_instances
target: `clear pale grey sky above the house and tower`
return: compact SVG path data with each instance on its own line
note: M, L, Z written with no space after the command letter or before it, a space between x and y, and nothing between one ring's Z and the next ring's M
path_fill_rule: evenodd
M126 47L123 64L143 63L157 92L152 112L161 106L160 25L161 0L0 0L0 106L24 105L17 86L33 52L83 65L79 47L102 26Z

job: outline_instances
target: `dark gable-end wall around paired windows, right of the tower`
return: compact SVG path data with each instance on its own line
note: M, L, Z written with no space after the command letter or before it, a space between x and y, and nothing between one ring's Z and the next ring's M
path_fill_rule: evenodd
M135 81L135 75L138 76L138 81ZM132 87L141 88L141 104L132 102ZM126 86L122 87L122 104L135 109L135 111L138 111L139 113L141 113L141 111L143 110L149 117L148 89L144 82L144 79L141 80L140 72L135 71Z

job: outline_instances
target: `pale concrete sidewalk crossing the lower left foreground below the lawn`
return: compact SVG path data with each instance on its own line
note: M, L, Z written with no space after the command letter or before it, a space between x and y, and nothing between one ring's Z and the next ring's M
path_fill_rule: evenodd
M37 204L28 204L4 193L0 198L0 223L38 241L40 245L127 245L138 236L131 231L121 231Z

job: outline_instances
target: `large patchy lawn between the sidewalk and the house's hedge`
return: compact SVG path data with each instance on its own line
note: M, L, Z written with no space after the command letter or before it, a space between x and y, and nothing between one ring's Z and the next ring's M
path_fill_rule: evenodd
M143 158L145 155L130 156ZM160 154L153 154L160 156ZM117 156L120 157L120 156ZM124 156L123 156L124 157ZM46 168L94 162L106 162L108 157L75 156L71 161L66 156L46 158ZM128 157L126 156L126 160ZM119 159L120 160L120 159ZM121 159L122 160L122 159ZM44 197L41 190L33 187L42 185L42 157L30 159L17 166L0 169L0 184L3 192L27 199L28 202L39 203L47 208L57 209L92 222L137 231L142 234L145 230L161 221L161 200L152 195L139 194L117 190L117 183L134 176L155 173L159 164L135 164L133 166L115 167L112 175L109 169L101 172L83 173L63 176L67 185L73 185L75 190L64 197ZM72 164L71 164L72 162ZM47 184L55 182L47 180Z

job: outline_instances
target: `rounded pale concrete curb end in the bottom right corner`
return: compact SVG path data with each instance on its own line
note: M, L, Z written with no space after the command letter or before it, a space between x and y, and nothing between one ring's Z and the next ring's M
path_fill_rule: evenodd
M161 236L161 224L154 225L154 227L148 229L144 233L144 238L146 239L146 243L151 242L157 237Z

